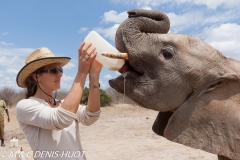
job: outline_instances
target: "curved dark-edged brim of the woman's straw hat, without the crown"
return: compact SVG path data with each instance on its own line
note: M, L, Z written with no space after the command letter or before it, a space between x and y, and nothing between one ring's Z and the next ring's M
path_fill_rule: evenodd
M28 64L26 64L18 73L16 81L19 87L25 88L25 80L26 78L32 74L37 69L53 64L58 63L61 67L65 66L71 60L70 57L47 57L42 59L34 60Z

